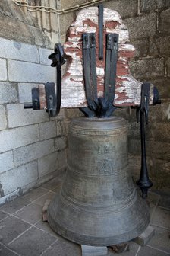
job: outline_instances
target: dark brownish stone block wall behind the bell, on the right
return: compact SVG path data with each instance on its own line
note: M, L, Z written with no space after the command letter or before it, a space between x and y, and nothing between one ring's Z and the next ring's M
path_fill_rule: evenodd
M85 2L85 1L83 1ZM68 7L61 0L61 8ZM77 1L71 1L77 5ZM162 104L150 107L149 124L146 126L146 154L153 189L168 190L170 187L170 2L168 0L111 0L104 7L118 11L128 26L131 43L136 55L131 60L131 73L141 82L152 82L159 89ZM76 13L60 16L61 42ZM129 168L134 180L140 174L140 125L136 123L135 110L121 109L129 123ZM66 123L79 110L66 111Z

